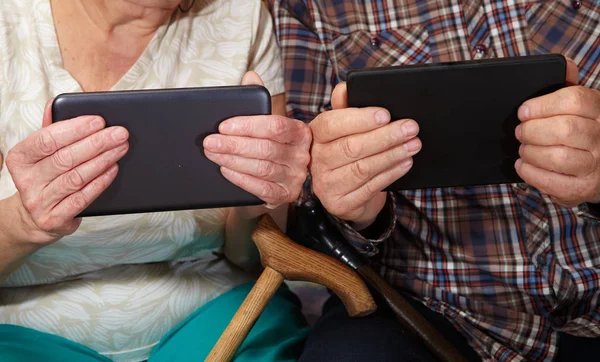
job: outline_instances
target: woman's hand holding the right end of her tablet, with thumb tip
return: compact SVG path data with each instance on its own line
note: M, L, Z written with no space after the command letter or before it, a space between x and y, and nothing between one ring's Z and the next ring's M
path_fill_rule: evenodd
M260 84L249 72L242 84ZM234 117L204 139L204 153L233 184L270 207L295 201L308 175L310 129L281 115Z

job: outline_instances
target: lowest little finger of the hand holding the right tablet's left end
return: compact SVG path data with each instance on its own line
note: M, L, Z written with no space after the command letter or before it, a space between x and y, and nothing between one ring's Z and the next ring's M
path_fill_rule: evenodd
M400 163L392 169L376 175L369 182L347 194L344 200L347 202L348 209L357 209L372 200L383 189L406 175L410 171L412 164L412 158L409 158L406 162Z

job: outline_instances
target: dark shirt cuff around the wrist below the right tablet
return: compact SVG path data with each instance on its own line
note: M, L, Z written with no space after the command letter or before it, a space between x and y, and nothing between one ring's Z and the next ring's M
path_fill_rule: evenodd
M331 214L329 218L331 223L338 228L338 230L342 233L342 236L352 245L359 253L365 256L374 256L379 253L378 245L382 243L384 240L388 239L392 232L396 228L396 197L392 192L387 193L387 199L385 205L379 215L377 215L377 219L373 222L371 228L369 226L367 229L368 232L359 232L356 231L348 224L346 221L341 220ZM377 230L375 230L377 229ZM368 238L365 235L378 235L375 238Z

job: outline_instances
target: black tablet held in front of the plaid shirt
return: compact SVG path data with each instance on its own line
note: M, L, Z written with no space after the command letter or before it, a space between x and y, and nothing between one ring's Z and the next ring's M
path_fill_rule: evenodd
M352 70L348 104L419 124L423 148L389 190L515 183L517 110L565 78L555 54Z

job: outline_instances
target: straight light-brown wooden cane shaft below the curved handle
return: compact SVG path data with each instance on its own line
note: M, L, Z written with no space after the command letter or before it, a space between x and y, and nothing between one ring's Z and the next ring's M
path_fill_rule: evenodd
M205 361L226 362L233 358L281 283L283 275L265 268Z

